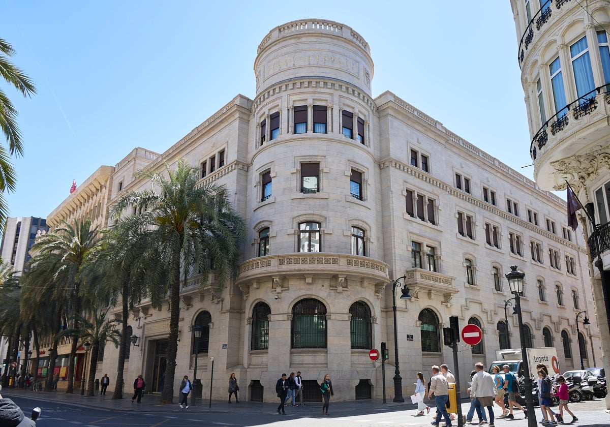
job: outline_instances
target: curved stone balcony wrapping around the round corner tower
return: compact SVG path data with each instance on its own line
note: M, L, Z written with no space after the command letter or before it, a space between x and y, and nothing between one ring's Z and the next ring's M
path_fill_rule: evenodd
M289 281L295 279L303 284L323 279L337 292L348 289L354 282L368 282L374 284L375 292L379 293L391 282L388 271L385 262L355 255L322 252L269 255L243 262L236 284L246 298L249 288L259 287L261 282L287 289Z

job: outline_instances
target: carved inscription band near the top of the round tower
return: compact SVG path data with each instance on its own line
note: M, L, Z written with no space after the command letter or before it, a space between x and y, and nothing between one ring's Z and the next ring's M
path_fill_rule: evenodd
M267 62L265 78L293 66L329 66L359 77L359 63L343 54L329 51L296 51Z

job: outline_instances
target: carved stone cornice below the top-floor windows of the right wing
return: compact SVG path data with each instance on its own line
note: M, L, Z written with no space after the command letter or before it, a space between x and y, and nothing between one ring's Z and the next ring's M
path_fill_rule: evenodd
M559 245L565 246L566 248L570 248L570 249L572 249L572 251L578 251L580 253L587 252L586 248L584 248L584 247L575 245L574 243L570 242L569 240L562 239L558 235L552 234L552 233L546 231L545 229L542 229L538 226L535 226L534 224L529 223L528 221L523 221L519 217L515 217L514 215L511 215L508 212L504 212L504 210L499 209L497 206L494 206L489 203L485 203L484 201L479 200L468 193L458 190L458 188L453 187L453 185L449 185L446 182L440 181L439 179L434 178L434 176L432 176L431 174L425 173L418 168L412 167L411 165L407 165L406 163L400 162L395 159L386 159L386 160L383 160L381 163L379 163L379 168L384 169L387 167L396 168L400 171L403 171L404 173L407 173L407 174L413 176L414 178L419 179L420 181L426 182L427 184L430 184L430 185L434 185L434 187L440 188L440 190L443 190L443 191L449 193L451 196L462 199L466 203L470 203L473 206L479 207L480 209L487 210L487 212L493 213L494 215L496 215L497 217L500 217L504 221L508 221L508 222L514 223L518 226L521 226L523 228L526 228L529 231L532 231L536 234L541 235L542 237L545 237L545 239L553 240L553 242L556 242ZM537 190L537 191L541 192L540 190ZM546 192L541 192L541 193L546 193Z

